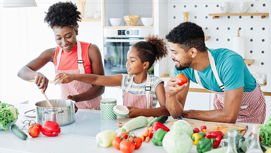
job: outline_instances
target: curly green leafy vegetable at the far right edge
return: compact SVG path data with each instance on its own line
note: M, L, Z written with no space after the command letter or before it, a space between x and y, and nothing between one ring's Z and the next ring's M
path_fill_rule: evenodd
M262 139L262 144L271 147L271 117L266 121L265 124L260 125L260 137Z

